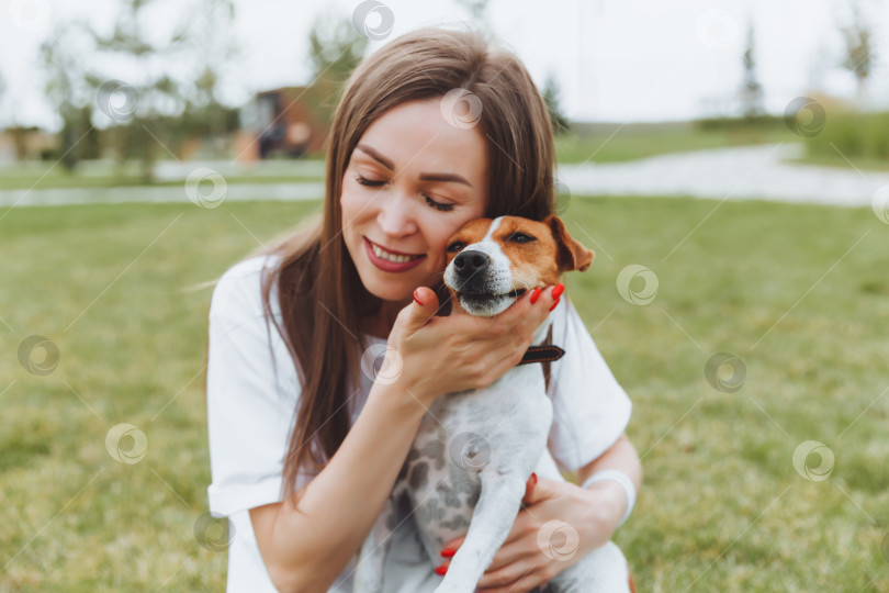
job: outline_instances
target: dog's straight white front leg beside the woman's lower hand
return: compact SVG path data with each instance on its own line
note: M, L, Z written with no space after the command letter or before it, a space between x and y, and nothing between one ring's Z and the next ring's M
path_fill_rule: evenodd
M499 473L487 466L479 478L482 493L466 537L435 593L472 593L516 522L526 479L516 471Z

